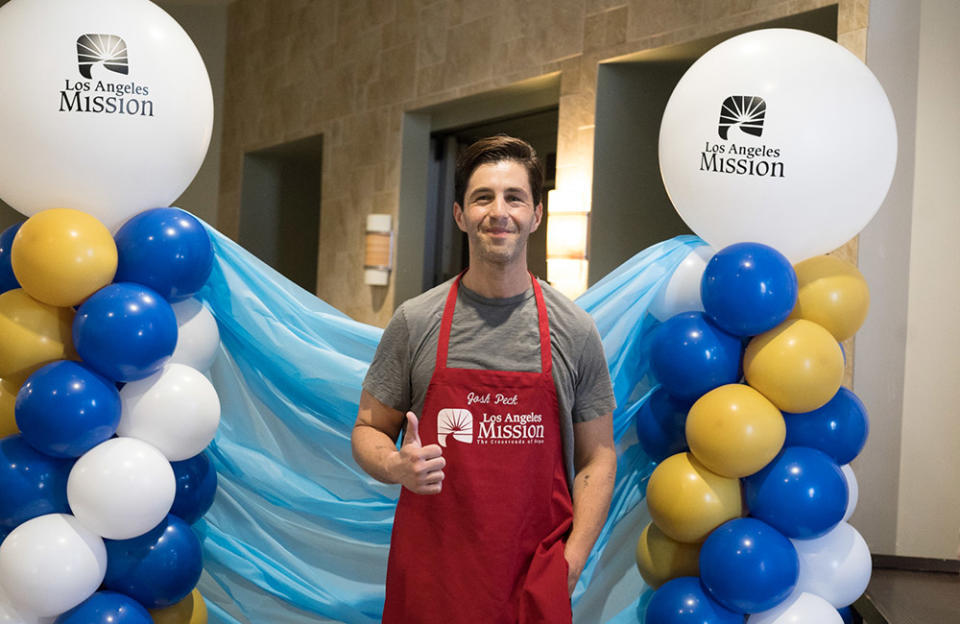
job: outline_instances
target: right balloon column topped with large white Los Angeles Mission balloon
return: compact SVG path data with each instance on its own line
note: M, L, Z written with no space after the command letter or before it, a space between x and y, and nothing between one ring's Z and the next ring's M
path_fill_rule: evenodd
M857 111L842 127L839 102ZM841 387L839 344L863 323L869 292L855 266L821 254L883 200L896 161L889 103L835 43L756 31L684 75L660 157L677 211L719 251L691 254L652 310L660 386L637 416L659 462L637 544L658 588L646 621L839 623L871 573L846 522L849 462L869 426Z

